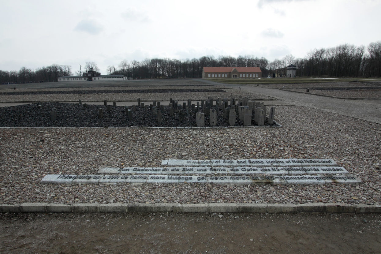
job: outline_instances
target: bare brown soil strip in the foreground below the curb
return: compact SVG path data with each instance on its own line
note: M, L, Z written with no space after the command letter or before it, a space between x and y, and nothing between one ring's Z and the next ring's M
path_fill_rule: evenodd
M0 214L0 230L0 252L19 254L381 249L380 214Z

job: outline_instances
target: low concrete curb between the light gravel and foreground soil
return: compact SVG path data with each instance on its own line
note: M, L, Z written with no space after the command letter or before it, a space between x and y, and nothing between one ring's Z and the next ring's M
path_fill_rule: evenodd
M0 204L0 212L233 212L233 213L379 213L381 205L367 204Z

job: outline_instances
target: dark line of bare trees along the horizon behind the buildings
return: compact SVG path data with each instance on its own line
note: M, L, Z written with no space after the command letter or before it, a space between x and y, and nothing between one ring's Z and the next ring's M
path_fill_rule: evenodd
M333 48L314 49L305 58L294 58L291 54L269 62L266 58L252 55L202 56L186 60L153 58L143 61L121 61L117 66L109 65L106 74L122 74L134 79L141 78L201 78L203 67L259 67L262 77L279 72L290 64L297 67L296 76L314 77L381 77L381 41L367 47L343 44ZM36 70L21 67L19 71L0 70L0 83L52 82L58 77L72 75L71 66L53 64ZM83 71L100 71L95 62L79 65L76 75Z

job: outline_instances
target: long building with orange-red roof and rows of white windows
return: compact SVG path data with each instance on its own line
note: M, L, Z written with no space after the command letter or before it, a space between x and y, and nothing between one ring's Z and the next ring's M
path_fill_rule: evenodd
M259 67L204 67L202 78L261 78Z

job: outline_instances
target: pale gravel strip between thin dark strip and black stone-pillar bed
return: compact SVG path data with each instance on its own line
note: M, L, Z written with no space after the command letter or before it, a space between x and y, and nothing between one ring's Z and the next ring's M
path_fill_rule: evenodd
M210 92L210 93L107 93L107 94L30 94L30 95L4 95L1 96L0 102L21 102L21 101L46 101L46 102L64 102L64 101L77 101L81 99L83 102L86 101L136 101L140 98L142 101L169 101L170 98L175 101L187 101L191 99L192 101L198 101L201 99L208 99L212 97L213 99L221 98L231 98L234 97L249 97L250 99L273 99L273 97L265 96L263 94L243 92L241 90L227 89L227 92Z

